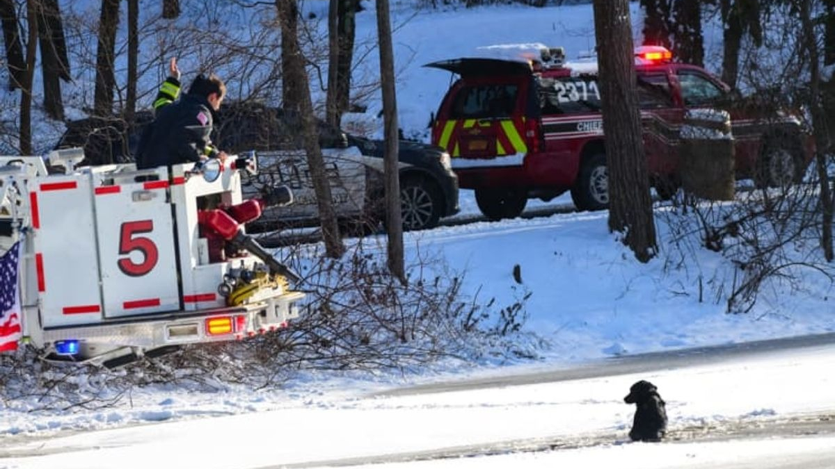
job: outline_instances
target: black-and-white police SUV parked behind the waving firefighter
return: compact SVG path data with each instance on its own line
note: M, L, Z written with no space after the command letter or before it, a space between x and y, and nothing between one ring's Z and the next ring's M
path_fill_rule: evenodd
M86 164L130 161L150 113L139 113L134 130L120 119L80 119L67 124L56 148L83 147ZM343 224L376 225L383 219L382 142L345 134L319 121L319 143L331 181L337 218ZM301 119L295 113L253 103L225 103L212 139L228 153L256 150L259 174L244 181L244 192L261 184L293 189L295 203L270 209L251 229L271 230L318 224L316 197L302 150ZM126 136L126 137L125 137ZM458 212L458 178L449 154L438 147L401 140L400 190L404 229L428 229Z

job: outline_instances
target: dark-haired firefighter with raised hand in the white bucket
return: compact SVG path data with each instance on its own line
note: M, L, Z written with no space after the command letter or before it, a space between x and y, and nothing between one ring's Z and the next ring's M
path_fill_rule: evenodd
M139 169L198 162L206 158L226 159L211 144L210 133L216 111L226 94L223 80L215 74L198 75L189 92L180 97L180 68L171 58L169 76L154 99L154 122L144 129L136 151ZM180 97L180 99L177 99Z

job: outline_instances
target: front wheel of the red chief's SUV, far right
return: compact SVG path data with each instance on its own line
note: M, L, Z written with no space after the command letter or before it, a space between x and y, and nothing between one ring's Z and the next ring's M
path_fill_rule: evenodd
M785 187L803 178L803 152L797 139L789 135L772 136L762 141L754 181L758 187Z

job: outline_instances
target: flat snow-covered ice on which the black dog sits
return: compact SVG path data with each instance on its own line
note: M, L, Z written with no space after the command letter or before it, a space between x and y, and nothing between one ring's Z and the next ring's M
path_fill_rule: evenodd
M344 381L339 384L346 391L308 393L303 399L293 399L289 392L283 401L267 393L193 396L157 391L136 396L149 425L95 432L57 431L61 426L56 426L39 432L51 438L6 436L0 467L367 464L458 469L583 463L639 469L717 467L727 461L776 457L798 463L810 451L817 454L818 462L822 453L832 462L835 436L829 433L807 438L768 436L767 441L749 438L733 444L686 438L688 429L719 434L740 420L762 426L832 411L835 383L830 374L821 372L832 366L835 354L828 346L681 370L437 394L369 396L371 389ZM681 441L628 442L633 406L625 405L622 398L637 379L659 386L667 401L671 436L677 434ZM158 401L149 401L153 397ZM230 401L249 401L249 405L233 411ZM275 402L267 406L265 401ZM189 406L214 415L189 418ZM119 421L124 414L115 408L99 417ZM170 422L160 424L163 420ZM551 445L566 448L543 451Z

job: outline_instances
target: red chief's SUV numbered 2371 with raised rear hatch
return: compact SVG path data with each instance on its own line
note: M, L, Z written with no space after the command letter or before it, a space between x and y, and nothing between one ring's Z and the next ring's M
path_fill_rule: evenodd
M475 189L488 218L516 217L527 199L549 200L566 190L578 209L605 209L608 174L596 61L564 63L561 49L523 49L518 59L427 65L460 76L438 108L433 144L452 155L461 187ZM635 51L645 153L660 194L676 187L680 130L687 111L696 108L729 111L738 178L782 185L802 177L811 139L797 118L742 106L718 78L670 58L664 48Z

